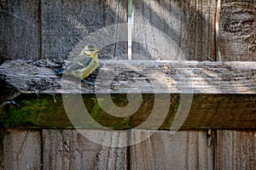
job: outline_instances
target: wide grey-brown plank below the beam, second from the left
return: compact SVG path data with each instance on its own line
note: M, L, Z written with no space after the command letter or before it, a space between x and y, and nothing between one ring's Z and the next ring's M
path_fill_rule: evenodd
M107 135L102 144L86 139L83 134L97 135L96 130L43 130L43 169L125 169L126 133ZM113 147L104 146L112 139ZM116 145L115 145L116 144ZM108 144L107 144L108 145Z

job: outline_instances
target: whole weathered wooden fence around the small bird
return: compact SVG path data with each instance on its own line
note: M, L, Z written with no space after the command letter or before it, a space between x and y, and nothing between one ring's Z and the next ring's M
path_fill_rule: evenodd
M135 0L132 5L129 58L127 0L0 1L0 59L10 59L0 66L1 102L8 103L0 108L1 169L256 168L256 1ZM154 59L166 60L155 61L154 68L165 71L170 79L178 75L178 68L196 68L194 78L202 84L191 91L194 99L181 130L169 131L186 88L167 93L172 96L168 114L161 130L152 135L148 135L152 130L119 130L97 144L80 132L97 136L111 130L74 129L61 102L60 79L53 76L47 61L69 59L86 42L102 47L99 58L102 67L107 65L108 75L122 64L150 72L154 65L149 61ZM181 59L181 53L182 59L197 61L167 62ZM32 76L35 73L38 76ZM98 108L93 87L84 88L84 103L91 113L100 114L94 115L97 122L108 122L107 127L137 127L153 111L156 98L147 88L147 77L143 78L141 87L132 87L149 89L143 94L143 108L128 119L106 116ZM169 82L168 87L179 87L178 81L185 82ZM119 89L113 100L127 105L127 91ZM121 147L111 147L109 141Z

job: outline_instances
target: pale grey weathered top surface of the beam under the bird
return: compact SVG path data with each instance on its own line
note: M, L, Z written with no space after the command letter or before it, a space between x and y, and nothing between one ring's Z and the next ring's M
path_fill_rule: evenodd
M48 60L10 60L2 79L21 93L41 94L256 94L256 62L101 60L88 77L96 86L57 77Z

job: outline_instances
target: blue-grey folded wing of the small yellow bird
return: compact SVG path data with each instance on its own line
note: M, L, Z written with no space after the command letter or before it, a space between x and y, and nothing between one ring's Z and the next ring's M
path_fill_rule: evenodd
M65 71L75 71L86 67L90 63L90 57L87 55L79 55L69 65L67 65Z

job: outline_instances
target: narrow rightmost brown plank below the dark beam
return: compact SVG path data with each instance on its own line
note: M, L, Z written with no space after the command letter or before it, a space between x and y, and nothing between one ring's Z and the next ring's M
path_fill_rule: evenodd
M255 169L256 130L217 130L217 169Z

